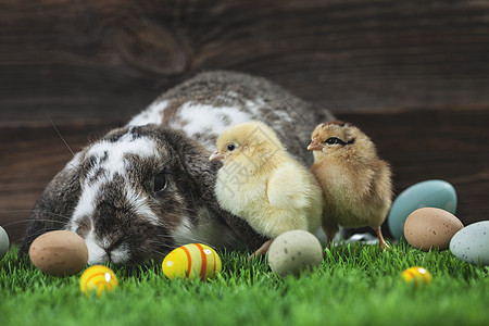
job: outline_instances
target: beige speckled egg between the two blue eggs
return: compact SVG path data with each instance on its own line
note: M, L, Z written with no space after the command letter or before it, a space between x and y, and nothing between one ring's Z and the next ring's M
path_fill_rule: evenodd
M455 215L435 208L412 212L404 223L404 237L416 249L447 250L452 237L464 227Z

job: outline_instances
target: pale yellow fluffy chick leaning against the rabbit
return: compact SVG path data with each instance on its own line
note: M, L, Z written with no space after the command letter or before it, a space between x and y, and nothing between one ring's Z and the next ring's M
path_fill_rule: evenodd
M247 122L223 131L211 161L222 160L215 195L221 206L271 239L321 226L323 195L312 173L293 160L267 125ZM266 253L272 240L256 254Z

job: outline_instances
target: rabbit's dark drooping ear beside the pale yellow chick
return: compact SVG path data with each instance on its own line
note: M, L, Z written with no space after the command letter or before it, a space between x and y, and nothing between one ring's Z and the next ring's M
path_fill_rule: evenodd
M268 239L258 234L244 220L223 210L217 203L214 187L222 163L209 161L210 152L183 134L172 133L168 136L192 180L193 198L203 200L214 215L227 224L249 249L259 249Z

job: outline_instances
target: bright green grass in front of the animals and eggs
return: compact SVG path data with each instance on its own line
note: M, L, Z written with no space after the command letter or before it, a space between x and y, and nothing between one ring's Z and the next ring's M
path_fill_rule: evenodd
M118 288L101 298L79 291L79 275L58 278L16 259L0 262L0 325L488 325L489 267L449 251L405 243L334 248L300 277L279 278L264 259L222 252L210 281L172 281L160 265L113 267ZM401 272L419 265L434 281L414 288Z

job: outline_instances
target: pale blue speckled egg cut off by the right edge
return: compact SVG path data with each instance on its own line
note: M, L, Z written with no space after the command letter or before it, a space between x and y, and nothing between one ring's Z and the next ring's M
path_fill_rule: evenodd
M457 259L478 265L489 265L489 221L467 225L450 241L450 251Z

